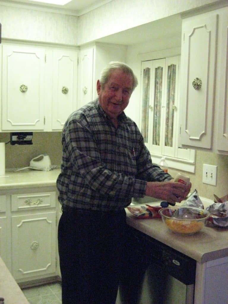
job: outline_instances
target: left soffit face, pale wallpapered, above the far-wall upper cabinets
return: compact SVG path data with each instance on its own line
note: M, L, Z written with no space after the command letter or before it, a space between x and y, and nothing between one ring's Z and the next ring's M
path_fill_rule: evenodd
M78 44L78 17L0 5L2 38Z

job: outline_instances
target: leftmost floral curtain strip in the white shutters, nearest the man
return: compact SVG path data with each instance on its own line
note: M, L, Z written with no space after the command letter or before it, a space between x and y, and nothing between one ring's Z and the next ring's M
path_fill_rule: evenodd
M149 103L150 103L150 68L143 70L143 96L142 96L142 135L145 142L148 142L149 127Z

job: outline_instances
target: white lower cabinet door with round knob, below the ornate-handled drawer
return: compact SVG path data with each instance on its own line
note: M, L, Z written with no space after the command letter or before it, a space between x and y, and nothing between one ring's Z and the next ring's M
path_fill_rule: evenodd
M12 216L12 275L45 277L56 271L56 212Z

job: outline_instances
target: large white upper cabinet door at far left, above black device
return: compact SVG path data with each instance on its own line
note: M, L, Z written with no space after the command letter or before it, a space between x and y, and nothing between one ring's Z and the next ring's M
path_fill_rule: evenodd
M2 130L44 129L42 47L3 45Z

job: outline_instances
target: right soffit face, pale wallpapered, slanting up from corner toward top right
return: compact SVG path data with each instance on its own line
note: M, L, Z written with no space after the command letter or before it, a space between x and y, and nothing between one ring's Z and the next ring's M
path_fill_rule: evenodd
M216 2L221 1L114 0L79 17L78 44Z

